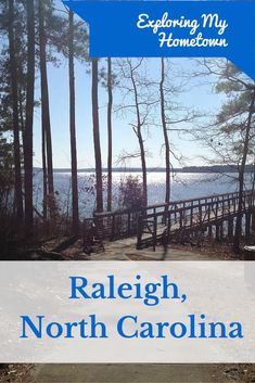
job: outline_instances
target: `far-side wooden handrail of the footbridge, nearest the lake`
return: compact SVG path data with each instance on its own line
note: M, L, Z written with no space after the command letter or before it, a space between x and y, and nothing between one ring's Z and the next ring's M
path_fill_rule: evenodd
M251 199L254 206L254 191L246 190L243 192L243 197L246 200ZM222 205L224 210L227 212L229 205L234 206L239 201L239 192L229 192L224 194L212 194L206 196L197 196L188 200L171 201L169 204L161 203L149 205L140 208L126 208L114 212L94 213L93 218L95 225L99 228L100 235L102 239L117 240L122 238L129 238L140 232L142 219L169 219L170 217L179 217L180 224L184 226L184 221L190 217L191 225L192 220L195 220L197 215L204 214L205 209L208 214L219 214L218 206ZM85 229L86 230L86 229Z

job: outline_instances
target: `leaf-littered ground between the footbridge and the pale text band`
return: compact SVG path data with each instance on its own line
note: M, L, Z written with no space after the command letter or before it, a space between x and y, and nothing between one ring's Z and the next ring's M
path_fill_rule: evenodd
M255 243L255 239L253 242ZM136 244L136 238L104 242L94 245L91 254L88 255L84 251L81 240L55 238L44 241L40 248L31 251L29 258L35 260L162 260L163 258L165 260L234 260L244 258L243 251L237 258L230 243L207 239L183 244L170 243L167 252L160 245L155 251L152 247L138 251Z

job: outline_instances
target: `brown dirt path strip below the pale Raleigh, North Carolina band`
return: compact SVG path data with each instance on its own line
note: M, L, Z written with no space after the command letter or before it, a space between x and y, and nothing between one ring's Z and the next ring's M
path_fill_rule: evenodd
M234 379L235 378L235 379ZM220 365L39 365L29 383L231 383ZM28 382L27 382L28 383Z

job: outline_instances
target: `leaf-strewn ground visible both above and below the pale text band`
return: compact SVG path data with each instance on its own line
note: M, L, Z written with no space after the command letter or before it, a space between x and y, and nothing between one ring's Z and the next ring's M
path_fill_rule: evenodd
M136 250L136 239L100 244L94 253L84 253L82 242L66 238L49 240L30 252L38 260L161 260L162 246L156 251ZM58 250L58 252L56 252ZM164 260L234 259L225 243L200 242L170 244ZM0 370L0 383L252 383L255 365L7 365Z

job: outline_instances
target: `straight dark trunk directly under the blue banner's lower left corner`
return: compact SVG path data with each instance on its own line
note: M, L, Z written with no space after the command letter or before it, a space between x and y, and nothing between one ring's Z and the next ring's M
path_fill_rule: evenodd
M98 213L103 212L103 182L102 182L102 159L99 132L99 100L98 100L98 59L92 59L92 119L93 119L93 143L95 162L95 192Z

